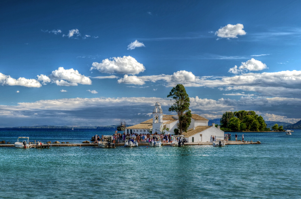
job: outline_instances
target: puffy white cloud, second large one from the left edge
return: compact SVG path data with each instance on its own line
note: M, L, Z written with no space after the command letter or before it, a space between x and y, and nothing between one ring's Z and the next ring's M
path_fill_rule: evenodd
M57 70L52 71L48 76L58 86L77 86L78 84L92 84L90 78L81 75L77 70L64 69L59 67Z

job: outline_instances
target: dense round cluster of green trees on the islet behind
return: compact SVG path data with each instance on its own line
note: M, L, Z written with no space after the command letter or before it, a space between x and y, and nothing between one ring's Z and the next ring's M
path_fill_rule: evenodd
M262 116L256 115L255 111L225 112L221 118L221 130L250 130L268 131Z

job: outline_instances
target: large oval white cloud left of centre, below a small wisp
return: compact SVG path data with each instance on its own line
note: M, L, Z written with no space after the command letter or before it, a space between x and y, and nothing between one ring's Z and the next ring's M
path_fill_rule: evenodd
M90 70L96 69L102 73L118 73L135 75L145 70L143 64L131 56L104 59L101 63L93 62Z

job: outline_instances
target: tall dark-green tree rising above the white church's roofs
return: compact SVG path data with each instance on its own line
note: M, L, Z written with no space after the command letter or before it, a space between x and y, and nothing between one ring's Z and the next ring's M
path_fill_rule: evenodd
M168 111L175 111L178 114L178 128L180 130L180 135L182 135L182 119L184 119L182 116L185 111L189 110L189 96L186 93L185 87L182 84L178 84L172 88L167 97L171 97L172 99L170 99L170 101L174 101L173 105L168 109Z

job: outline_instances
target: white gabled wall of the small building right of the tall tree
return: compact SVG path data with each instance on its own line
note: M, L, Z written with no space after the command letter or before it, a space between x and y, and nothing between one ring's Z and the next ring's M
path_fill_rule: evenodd
M211 127L193 136L190 136L189 138L186 138L187 142L192 142L192 137L194 137L194 142L201 142L200 134L202 134L202 142L210 142L211 136L216 136L216 138L220 137L221 139L224 137L224 131L219 130L216 127Z

